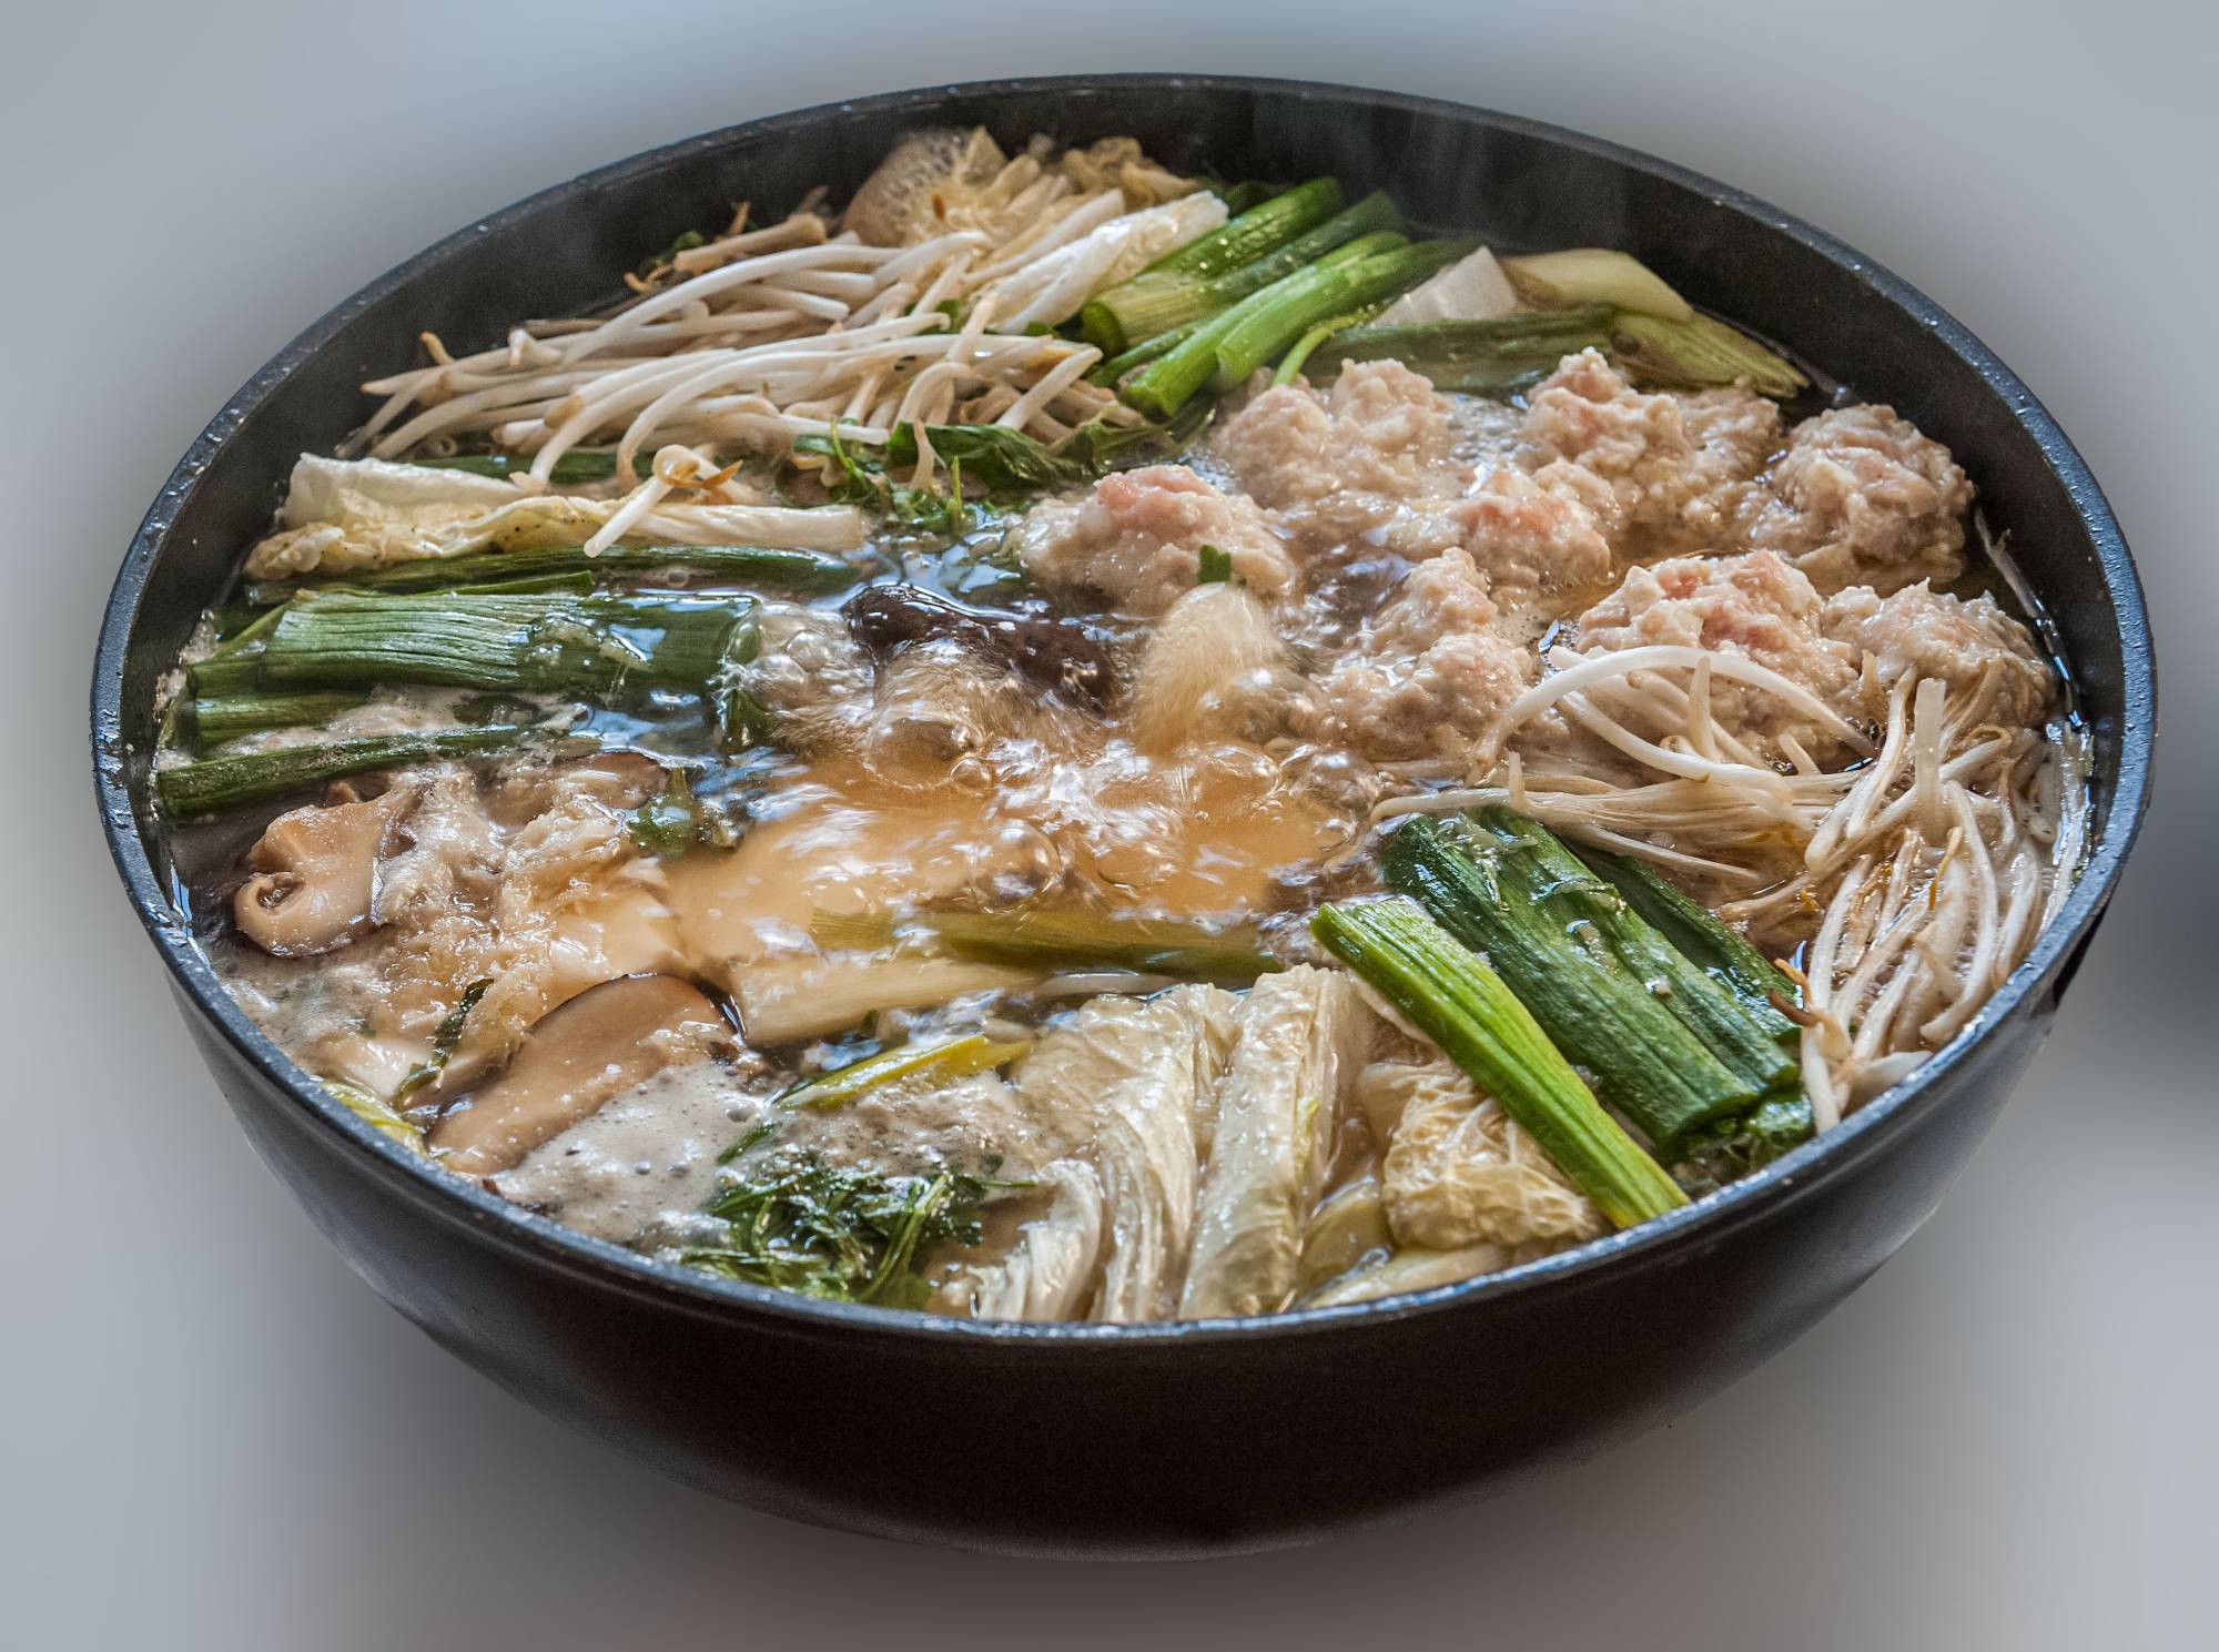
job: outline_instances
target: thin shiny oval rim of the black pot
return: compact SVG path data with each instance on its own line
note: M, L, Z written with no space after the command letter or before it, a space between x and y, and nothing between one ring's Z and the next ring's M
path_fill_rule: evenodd
M169 540L178 513L191 502L204 473L224 451L249 413L266 400L277 384L300 371L302 364L324 351L337 333L364 309L388 298L393 291L430 275L466 246L490 231L506 229L557 202L601 189L624 187L635 178L650 175L677 158L703 149L723 149L739 140L777 138L790 133L801 138L828 129L841 120L863 113L928 115L950 98L992 100L1019 93L1081 93L1081 91L1223 91L1223 93L1269 93L1291 95L1314 104L1396 109L1414 115L1449 118L1465 124L1485 124L1500 131L1536 138L1560 149L1580 151L1598 160L1627 167L1631 171L1680 184L1715 206L1724 206L1742 218L1755 220L1764 229L1782 233L1820 258L1846 269L1866 289L1899 311L1917 318L1935 338L1937 346L1957 355L1979 380L2010 409L2013 420L2033 437L2048 469L2075 500L2075 520L2086 533L2099 564L2104 591L2112 608L2112 626L2121 651L2121 695L2119 717L2119 777L2115 790L2101 802L2090 822L2090 850L2081 875L2057 919L2044 928L2028 957L2010 973L2002 988L1982 1006L1979 1015L1913 1077L1891 1088L1877 1101L1860 1108L1835 1130L1804 1144L1762 1170L1711 1192L1680 1210L1640 1223L1624 1232L1607 1235L1573 1250L1562 1250L1538 1261L1507 1268L1496 1275L1480 1275L1451 1286L1387 1297L1340 1308L1305 1308L1283 1314L1256 1314L1240 1319L1192 1319L1143 1326L1074 1326L1074 1323L1030 1323L1030 1321L972 1321L945 1319L896 1308L868 1308L857 1303L830 1303L810 1297L715 1279L692 1268L661 1263L641 1257L604 1239L573 1232L550 1217L533 1215L506 1199L468 1183L444 1170L435 1170L422 1155L399 1146L384 1132L371 1128L340 1101L335 1101L315 1079L308 1077L284 1050L277 1048L240 1010L215 970L193 944L191 928L169 904L162 879L155 873L144 822L133 804L129 786L129 764L122 751L124 664L131 653L138 626L140 600L155 557ZM357 1155L364 1170L386 1179L388 1188L404 1192L419 1212L446 1223L468 1226L495 1243L508 1243L535 1252L541 1263L555 1266L581 1283L604 1290L619 1290L635 1297L657 1299L663 1306L690 1314L759 1319L766 1328L783 1328L797 1334L843 1334L868 1332L877 1337L905 1337L941 1348L1050 1348L1050 1346L1112 1346L1112 1348L1158 1348L1165 1343L1218 1343L1258 1341L1280 1337L1318 1337L1342 1332L1378 1321L1400 1321L1429 1317L1449 1310L1485 1310L1485 1303L1533 1290L1571 1292L1595 1281L1602 1270L1624 1270L1635 1263L1649 1266L1671 1261L1691 1252L1704 1241L1722 1239L1726 1232L1751 1221L1775 1215L1786 1203L1806 1197L1811 1190L1833 1181L1857 1161L1875 1152L1886 1139L1899 1135L1906 1121L1937 1084L1948 1079L1959 1066L1975 1059L1982 1044L2015 1019L2022 1006L2048 990L2059 990L2057 977L2077 961L2097 919L2104 913L2119 870L2141 830L2150 804L2152 757L2157 744L2157 666L2150 637L2148 611L2144 606L2141 582L2119 522L2104 500L2101 488L2073 442L2050 417L2048 409L2026 389L2026 384L1995 353L1982 344L1964 324L1939 304L1911 286L1906 280L1864 258L1833 235L1771 206L1755 195L1729 189L1684 167L1627 149L1622 144L1589 138L1564 127L1504 115L1489 109L1456 104L1438 98L1418 98L1365 87L1345 87L1311 80L1271 80L1252 75L1185 75L1185 73L1114 73L1114 75L1021 75L999 80L974 80L959 84L921 87L892 91L874 98L797 109L763 120L723 127L695 138L663 144L628 160L599 167L568 182L553 184L528 195L513 206L490 213L473 224L446 235L415 258L395 264L377 280L362 286L324 318L313 322L277 355L273 355L246 384L229 397L224 409L195 437L186 455L178 462L169 482L149 508L144 522L131 540L122 571L109 595L100 626L100 648L93 668L93 766L95 793L100 802L102 828L109 853L131 897L131 906L146 926L155 950L171 970L173 986L195 1013L222 1035L260 1079L280 1090L293 1106L288 1108L302 1128L315 1130L326 1146Z

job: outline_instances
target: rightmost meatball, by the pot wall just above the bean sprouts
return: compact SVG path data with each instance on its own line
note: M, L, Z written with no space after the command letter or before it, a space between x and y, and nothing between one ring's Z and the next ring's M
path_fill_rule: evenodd
M1882 597L1855 586L1828 597L1824 631L1842 646L1873 655L1879 682L1939 677L1953 691L1988 679L1986 717L2024 728L2041 717L2057 682L2033 635L1995 597L1946 597L1924 580Z

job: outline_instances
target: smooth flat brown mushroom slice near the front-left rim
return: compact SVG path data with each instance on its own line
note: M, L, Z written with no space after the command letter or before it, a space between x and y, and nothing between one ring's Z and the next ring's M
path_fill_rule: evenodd
M601 981L541 1015L515 1059L428 1141L448 1170L490 1177L726 1035L717 1006L675 975Z

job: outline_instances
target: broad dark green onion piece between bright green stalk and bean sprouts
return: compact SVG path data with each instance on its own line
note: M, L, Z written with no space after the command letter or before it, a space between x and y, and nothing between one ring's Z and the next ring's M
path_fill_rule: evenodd
M1793 1079L1766 1028L1533 822L1507 810L1462 826L1414 819L1389 839L1382 868L1489 957L1595 1075L1598 1095L1658 1146Z

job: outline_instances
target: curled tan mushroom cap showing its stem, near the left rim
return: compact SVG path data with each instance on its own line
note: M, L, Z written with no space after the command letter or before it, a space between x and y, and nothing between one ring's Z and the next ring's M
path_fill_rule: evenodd
M255 870L231 897L240 935L277 957L335 953L371 928L377 857L415 793L295 808L246 853Z

